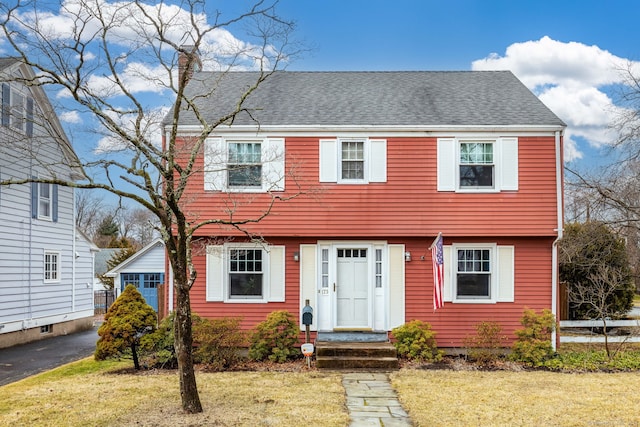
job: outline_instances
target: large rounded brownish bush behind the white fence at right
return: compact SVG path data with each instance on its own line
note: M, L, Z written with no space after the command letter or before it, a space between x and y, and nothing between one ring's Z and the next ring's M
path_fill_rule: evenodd
M559 267L571 319L619 318L632 308L635 284L625 242L607 225L568 224Z

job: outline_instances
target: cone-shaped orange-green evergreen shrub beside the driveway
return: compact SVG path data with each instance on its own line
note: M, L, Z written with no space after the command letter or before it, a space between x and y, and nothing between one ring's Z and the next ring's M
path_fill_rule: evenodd
M134 285L127 285L104 316L98 329L95 359L104 360L131 349L133 364L140 369L137 346L143 334L157 325L155 310L146 303Z

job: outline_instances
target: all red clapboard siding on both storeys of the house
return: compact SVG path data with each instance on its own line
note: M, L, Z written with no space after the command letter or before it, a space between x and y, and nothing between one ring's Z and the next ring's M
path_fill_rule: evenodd
M276 137L277 135L272 135ZM551 248L557 232L555 141L548 137L519 138L519 190L460 194L436 191L436 138L387 138L387 182L339 185L318 182L318 138L286 139L285 196L296 181L306 193L278 202L259 224L247 228L269 243L286 245L286 301L242 304L205 301L205 257L194 255L199 272L191 291L192 309L206 317L241 316L252 328L274 310L298 316L300 264L291 254L302 243L329 239L381 239L403 243L412 253L406 263L406 320L430 322L441 347L462 347L466 336L482 321L499 322L513 339L524 308L551 307ZM200 159L202 162L202 159ZM202 166L202 163L198 165ZM252 218L265 209L265 194L204 193L203 176L188 184L185 211L194 219ZM433 283L427 248L442 232L445 244L495 242L515 246L515 302L452 304L433 311ZM211 225L200 236L239 236L229 228ZM421 256L424 255L424 260Z

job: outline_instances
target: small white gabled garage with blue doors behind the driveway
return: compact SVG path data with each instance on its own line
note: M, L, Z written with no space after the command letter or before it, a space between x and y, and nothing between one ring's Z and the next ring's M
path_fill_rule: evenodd
M113 287L118 295L124 288L135 285L144 299L158 311L158 286L165 279L165 250L162 239L156 239L115 266L107 273L113 277Z

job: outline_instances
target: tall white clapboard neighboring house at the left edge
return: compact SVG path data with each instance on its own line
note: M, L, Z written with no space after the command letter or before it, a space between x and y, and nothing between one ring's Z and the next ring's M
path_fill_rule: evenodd
M0 182L81 180L46 94L18 83L33 77L19 60L0 58ZM96 248L76 229L74 200L61 185L0 186L0 348L93 326Z

